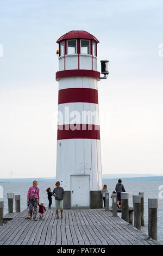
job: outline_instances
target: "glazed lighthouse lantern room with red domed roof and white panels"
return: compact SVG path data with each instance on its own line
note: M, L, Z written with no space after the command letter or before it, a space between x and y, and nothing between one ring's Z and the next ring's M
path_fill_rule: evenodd
M86 31L70 31L62 35L59 44L59 71L97 71L97 38Z

